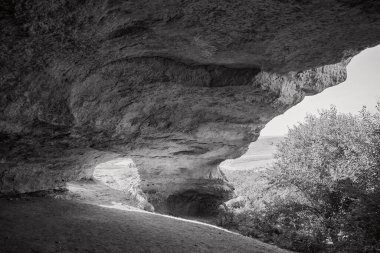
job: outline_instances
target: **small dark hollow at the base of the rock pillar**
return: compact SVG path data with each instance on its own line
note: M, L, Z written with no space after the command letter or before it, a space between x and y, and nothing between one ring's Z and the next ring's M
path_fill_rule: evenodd
M167 198L167 208L171 215L209 217L215 216L219 205L225 199L209 193L187 190Z

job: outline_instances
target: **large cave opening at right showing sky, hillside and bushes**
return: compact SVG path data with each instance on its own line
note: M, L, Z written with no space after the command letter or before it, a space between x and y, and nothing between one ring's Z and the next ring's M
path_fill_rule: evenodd
M372 232L378 213L357 212L379 206L379 59L380 46L358 54L345 82L274 118L243 156L220 165L237 195L225 203L223 227L266 240L282 237L275 244L297 252L314 251L298 244L310 239L318 241L316 252L349 252L354 243L360 245L355 252L379 248L372 245L379 241ZM290 233L299 236L293 240Z

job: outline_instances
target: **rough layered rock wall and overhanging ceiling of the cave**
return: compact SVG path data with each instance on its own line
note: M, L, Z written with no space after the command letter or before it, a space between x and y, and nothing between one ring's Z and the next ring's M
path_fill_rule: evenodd
M0 192L127 156L156 207L197 213L232 195L220 162L379 42L375 0L4 0Z

